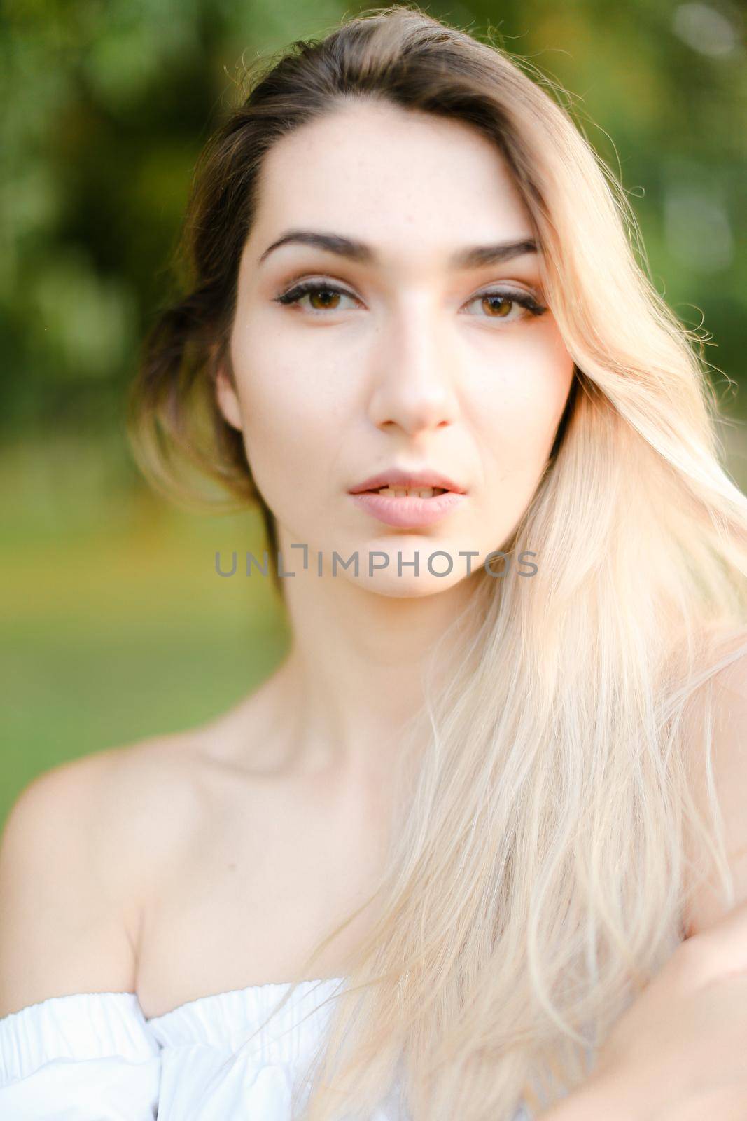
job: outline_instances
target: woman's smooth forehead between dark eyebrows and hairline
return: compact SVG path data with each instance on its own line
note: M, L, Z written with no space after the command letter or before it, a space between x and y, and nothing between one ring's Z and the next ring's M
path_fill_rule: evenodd
M394 260L531 235L532 222L498 148L454 119L381 102L336 108L268 152L250 242L325 229Z

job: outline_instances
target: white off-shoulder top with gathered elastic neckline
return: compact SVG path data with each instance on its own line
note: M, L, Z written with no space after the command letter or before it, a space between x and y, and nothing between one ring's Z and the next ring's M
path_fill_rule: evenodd
M132 992L50 997L0 1019L2 1121L290 1121L343 978L199 997L147 1019ZM261 1030L249 1038L256 1028ZM242 1045L246 1041L246 1046ZM520 1106L514 1121L530 1121ZM409 1121L395 1084L371 1121Z

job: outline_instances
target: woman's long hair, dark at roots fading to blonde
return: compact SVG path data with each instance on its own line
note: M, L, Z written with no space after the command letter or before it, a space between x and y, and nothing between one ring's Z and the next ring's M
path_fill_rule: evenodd
M343 104L383 99L496 145L575 362L542 479L502 546L538 554L538 572L469 577L392 776L376 890L281 1002L371 908L293 1115L366 1118L400 1087L415 1121L507 1121L590 1073L685 936L693 886L716 869L734 902L710 698L747 650L747 499L721 464L703 337L655 290L625 191L554 82L415 4L296 41L246 82L198 164L186 294L159 315L132 387L129 433L156 488L185 499L196 466L228 504L259 503L277 548L215 377L262 160ZM692 794L701 768L708 815Z

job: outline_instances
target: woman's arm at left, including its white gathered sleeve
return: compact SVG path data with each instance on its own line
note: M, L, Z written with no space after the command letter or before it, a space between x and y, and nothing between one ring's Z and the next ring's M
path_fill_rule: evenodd
M0 842L0 1117L155 1121L160 1046L133 991L111 752L35 779ZM119 823L119 824L118 824ZM131 834L131 831L125 831Z

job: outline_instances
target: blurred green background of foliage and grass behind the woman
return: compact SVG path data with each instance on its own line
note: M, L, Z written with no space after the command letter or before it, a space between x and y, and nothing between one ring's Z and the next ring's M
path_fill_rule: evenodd
M711 344L726 462L745 489L747 67L744 9L669 0L423 4L571 93L620 175L654 284ZM263 548L253 512L153 494L124 435L141 339L196 157L244 64L323 36L355 3L8 0L0 28L2 763L0 821L37 773L202 722L282 656L270 580L221 580ZM259 555L259 552L258 552Z

